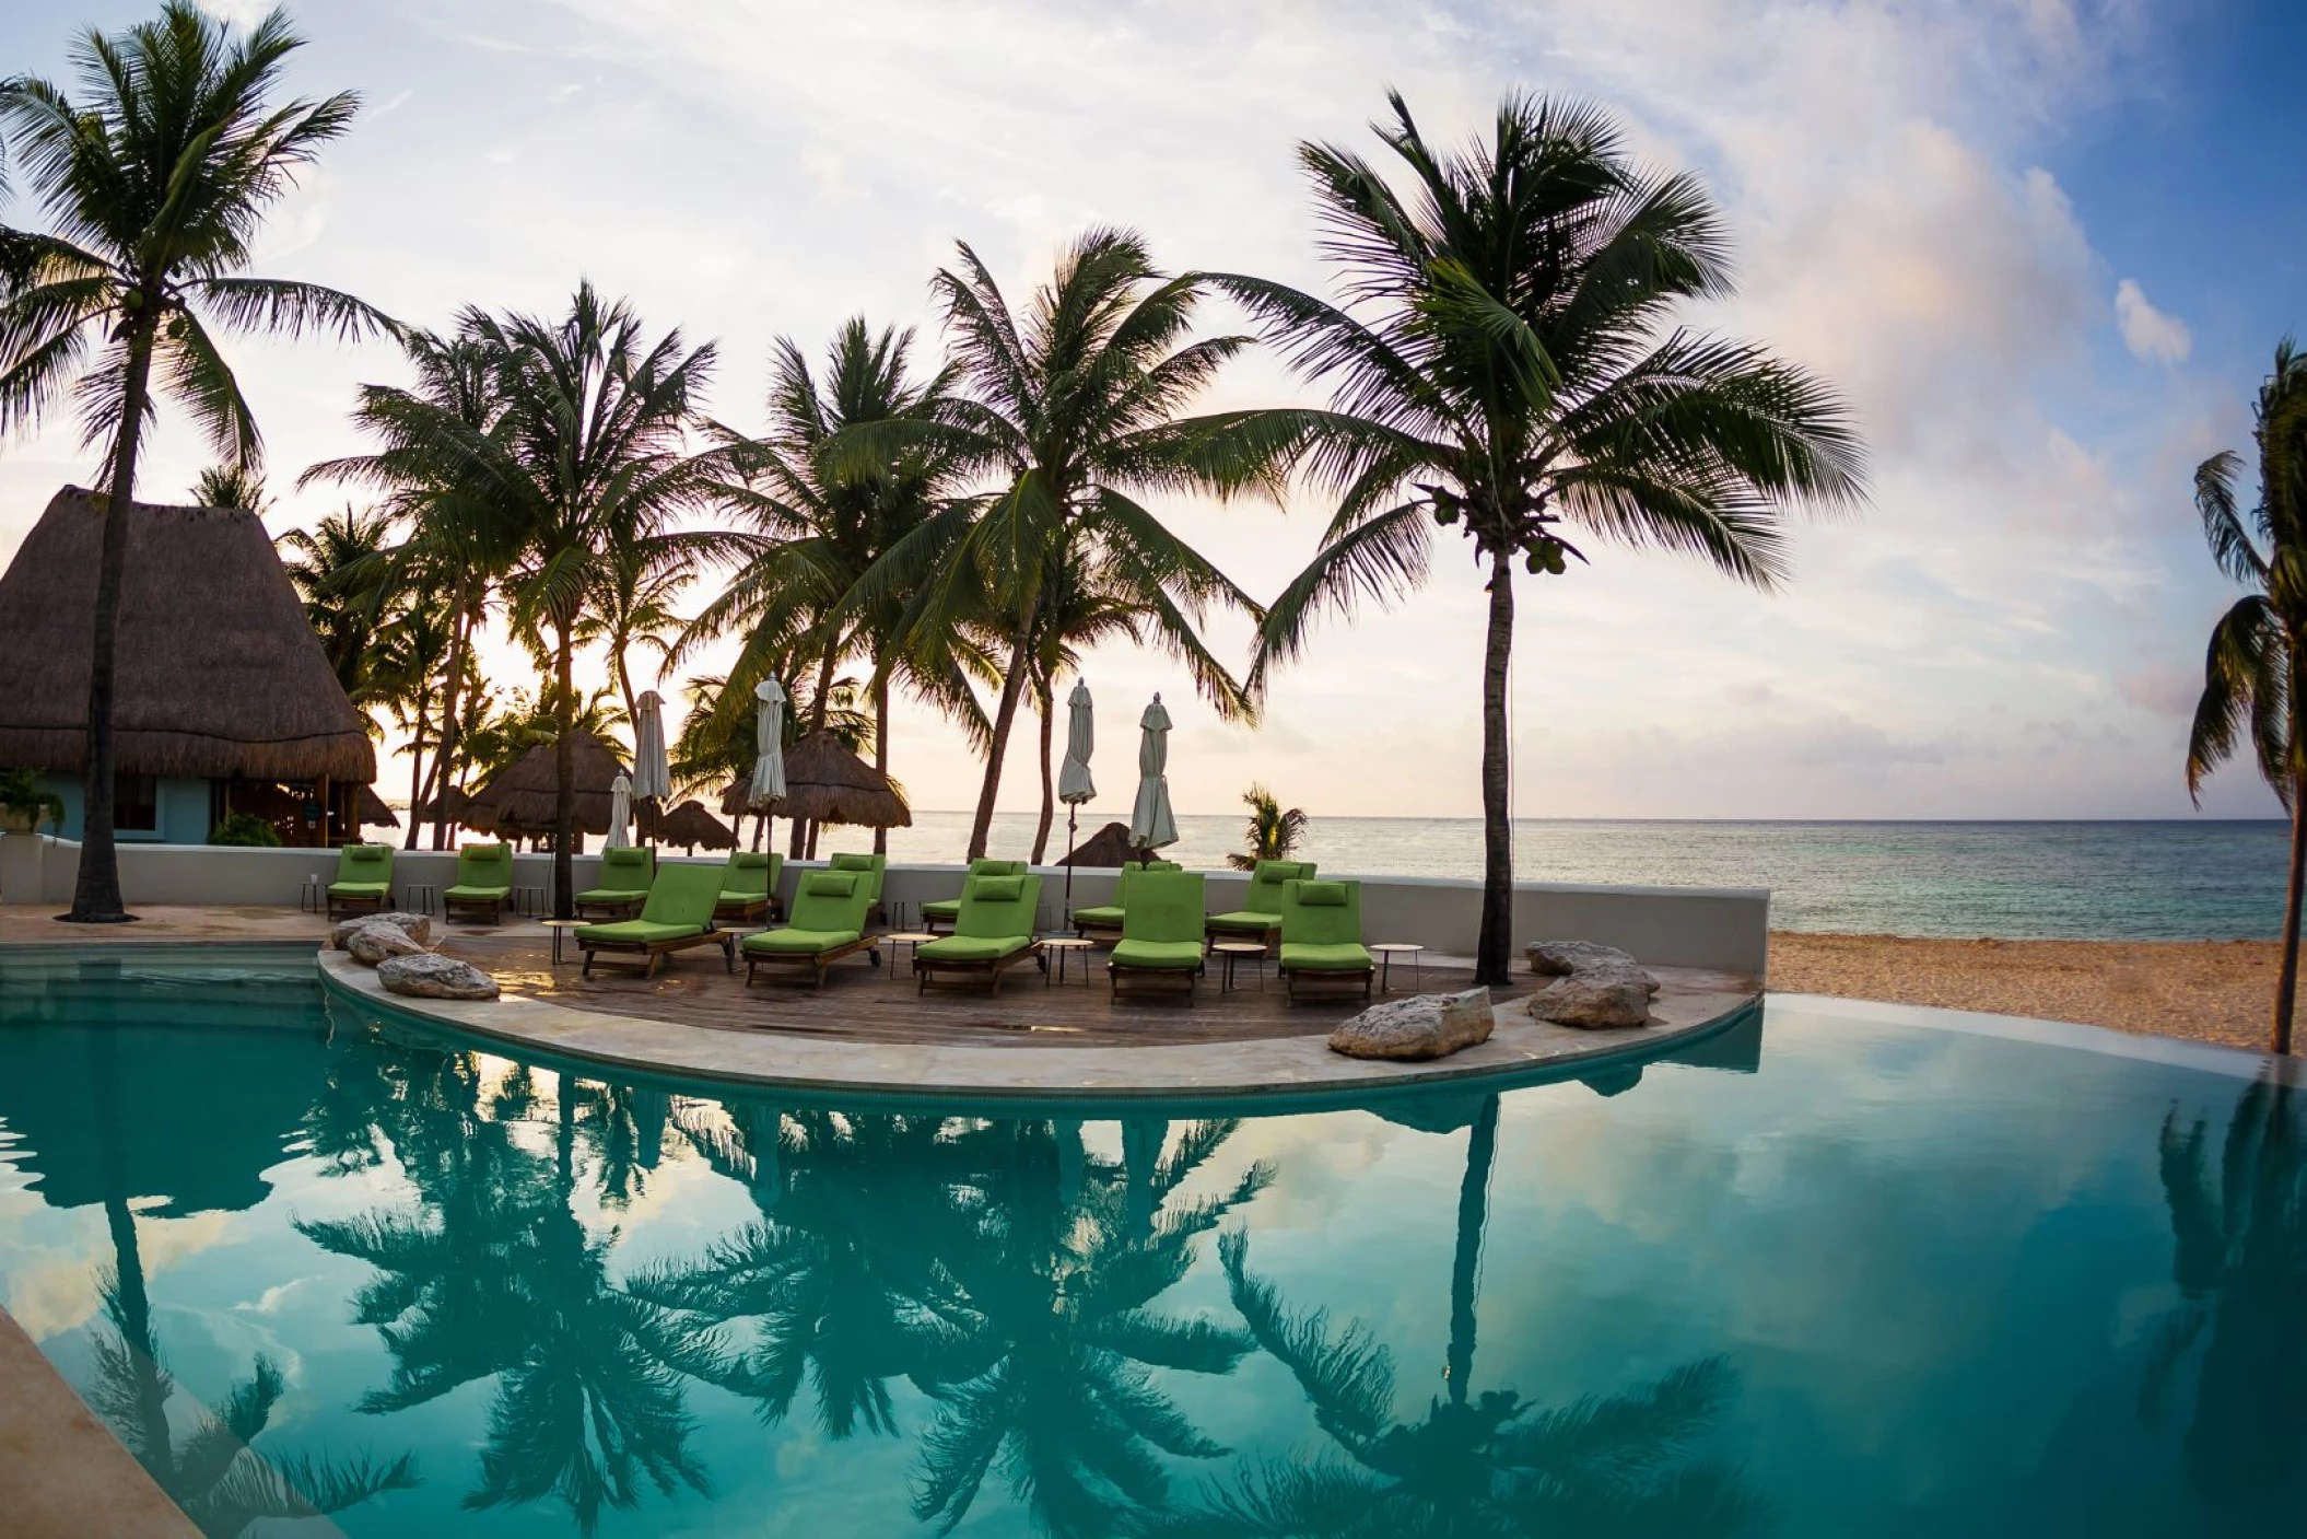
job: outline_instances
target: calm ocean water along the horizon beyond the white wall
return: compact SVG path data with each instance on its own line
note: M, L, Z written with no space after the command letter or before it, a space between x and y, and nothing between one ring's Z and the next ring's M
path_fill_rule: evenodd
M960 861L967 812L916 812L891 856ZM1103 824L1103 819L1098 819ZM1082 826L1091 833L1096 824ZM1193 868L1241 849L1239 817L1179 817L1163 851ZM837 849L861 838L840 831ZM1050 858L1066 851L1059 819ZM994 854L1024 854L1034 817L997 817ZM819 844L824 849L824 844ZM1359 877L1481 877L1470 817L1317 817L1303 854ZM1850 934L2002 939L2265 939L2284 918L2277 821L2157 824L1696 824L1525 819L1523 881L1767 886L1772 925Z

